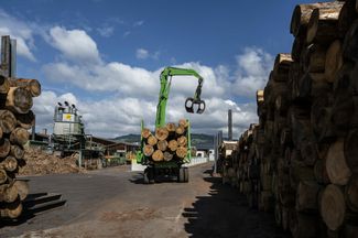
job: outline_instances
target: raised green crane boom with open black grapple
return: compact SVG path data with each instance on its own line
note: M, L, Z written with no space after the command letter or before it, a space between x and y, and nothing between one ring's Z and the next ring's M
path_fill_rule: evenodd
M202 86L204 78L194 69L165 67L160 76L161 89L159 94L159 101L156 106L155 128L165 126L166 102L171 89L172 76L194 76L198 79L198 86L195 90L194 97L189 97L185 101L187 112L194 112L194 105L198 106L197 113L203 113L205 110L205 102L200 99Z

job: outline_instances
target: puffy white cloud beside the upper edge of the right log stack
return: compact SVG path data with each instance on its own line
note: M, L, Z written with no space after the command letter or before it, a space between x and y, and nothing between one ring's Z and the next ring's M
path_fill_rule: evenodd
M257 47L245 48L243 54L237 56L235 94L254 96L256 90L267 84L272 66L273 57L269 53Z

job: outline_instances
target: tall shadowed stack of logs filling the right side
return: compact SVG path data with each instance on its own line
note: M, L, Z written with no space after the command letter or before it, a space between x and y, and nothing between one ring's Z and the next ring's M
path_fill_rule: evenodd
M292 52L276 56L259 125L234 153L240 191L295 238L358 237L357 7L296 6Z

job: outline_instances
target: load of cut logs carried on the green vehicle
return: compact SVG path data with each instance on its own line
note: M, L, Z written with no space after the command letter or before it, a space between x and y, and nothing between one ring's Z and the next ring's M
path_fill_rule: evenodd
M144 156L153 162L183 161L188 152L188 121L181 119L177 126L169 122L165 127L156 128L154 133L144 128L142 130Z

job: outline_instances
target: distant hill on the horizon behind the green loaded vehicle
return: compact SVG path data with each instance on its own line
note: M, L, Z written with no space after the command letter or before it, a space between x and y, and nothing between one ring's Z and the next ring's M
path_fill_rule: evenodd
M126 134L112 140L118 142L135 143L140 141L140 134ZM203 133L192 133L192 145L199 149L210 149L214 147L214 137Z

